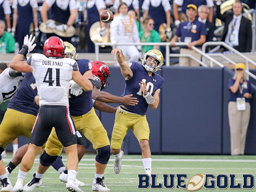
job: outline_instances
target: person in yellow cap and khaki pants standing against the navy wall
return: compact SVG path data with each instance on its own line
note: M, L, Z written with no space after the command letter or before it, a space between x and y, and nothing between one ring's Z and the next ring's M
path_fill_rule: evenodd
M244 63L237 63L235 74L228 81L230 99L228 102L228 122L230 126L231 155L244 155L246 133L250 120L250 100L254 90L246 80Z

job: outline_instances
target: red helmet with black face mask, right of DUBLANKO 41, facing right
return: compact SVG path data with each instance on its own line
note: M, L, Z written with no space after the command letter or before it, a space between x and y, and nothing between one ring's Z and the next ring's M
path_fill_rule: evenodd
M93 61L91 71L93 75L100 78L101 90L106 89L109 86L107 78L110 77L110 70L107 64L101 61Z

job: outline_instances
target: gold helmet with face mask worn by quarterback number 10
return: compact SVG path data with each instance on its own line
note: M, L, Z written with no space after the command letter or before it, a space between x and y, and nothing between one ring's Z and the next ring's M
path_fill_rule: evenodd
M151 65L147 65L147 58L151 56L154 57L158 64L156 67L152 67ZM157 49L151 49L147 53L144 54L144 58L142 59L142 65L147 71L157 72L157 70L164 64L164 56L161 51ZM161 69L160 69L161 70Z

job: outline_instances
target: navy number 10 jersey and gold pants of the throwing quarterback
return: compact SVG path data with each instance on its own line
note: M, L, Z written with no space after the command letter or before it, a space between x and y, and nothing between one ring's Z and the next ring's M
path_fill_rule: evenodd
M163 77L157 73L152 73L152 76L149 76L145 68L138 62L130 62L129 65L133 72L133 77L130 80L126 80L123 95L136 95L139 102L135 106L125 106L128 110L121 106L116 112L111 149L121 149L123 138L130 128L139 142L144 139L149 140L149 124L145 116L149 104L142 96L143 93L140 90L139 83L144 81L148 92L154 95L157 89L162 88L164 82Z

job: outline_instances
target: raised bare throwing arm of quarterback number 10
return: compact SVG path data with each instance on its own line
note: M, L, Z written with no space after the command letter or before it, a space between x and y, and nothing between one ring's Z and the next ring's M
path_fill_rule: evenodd
M125 80L129 80L133 76L133 72L131 71L130 66L128 65L128 62L125 61L125 55L123 55L123 52L119 48L114 48L111 51L112 55L116 55L116 59L120 65L121 73L125 77Z

